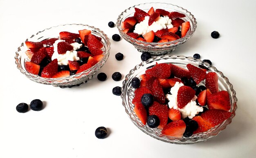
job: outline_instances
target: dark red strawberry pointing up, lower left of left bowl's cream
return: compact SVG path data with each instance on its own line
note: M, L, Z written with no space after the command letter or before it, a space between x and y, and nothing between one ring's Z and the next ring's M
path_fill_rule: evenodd
M50 62L48 65L46 65L46 67L43 68L41 77L51 78L57 72L58 72L58 60L54 59L54 60L52 60L52 62Z

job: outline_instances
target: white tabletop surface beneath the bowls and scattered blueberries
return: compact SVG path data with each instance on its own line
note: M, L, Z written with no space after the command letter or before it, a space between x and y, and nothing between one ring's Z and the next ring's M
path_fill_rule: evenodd
M121 97L112 88L122 81L112 80L112 73L123 76L141 62L137 50L122 39L112 39L106 65L105 82L96 75L88 83L61 89L32 82L14 63L21 42L45 28L68 23L83 23L100 28L110 38L118 33L118 15L128 7L146 0L64 1L0 0L0 158L169 158L223 157L253 158L256 155L255 108L255 37L256 1L244 0L159 0L191 11L198 22L194 36L172 54L210 59L234 85L238 98L236 117L231 125L207 142L174 145L144 134L130 121ZM220 38L213 39L212 31ZM115 54L124 54L117 61ZM18 113L16 105L33 99L44 102L42 111ZM109 136L94 136L99 126L108 128Z

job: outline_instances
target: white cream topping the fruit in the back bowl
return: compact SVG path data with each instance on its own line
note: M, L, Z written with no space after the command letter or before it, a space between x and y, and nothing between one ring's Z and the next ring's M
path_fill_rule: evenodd
M135 25L135 30L133 32L138 33L139 35L144 35L150 31L158 31L161 29L170 29L173 28L171 24L172 20L168 16L159 17L157 21L153 22L150 26L148 26L149 16L145 16L145 19Z

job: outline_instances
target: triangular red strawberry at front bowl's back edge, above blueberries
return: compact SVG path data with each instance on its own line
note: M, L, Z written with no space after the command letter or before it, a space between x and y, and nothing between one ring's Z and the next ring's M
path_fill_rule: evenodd
M206 73L204 70L200 69L191 64L187 64L186 67L189 69L191 77L196 82L196 84L200 83L206 77Z

